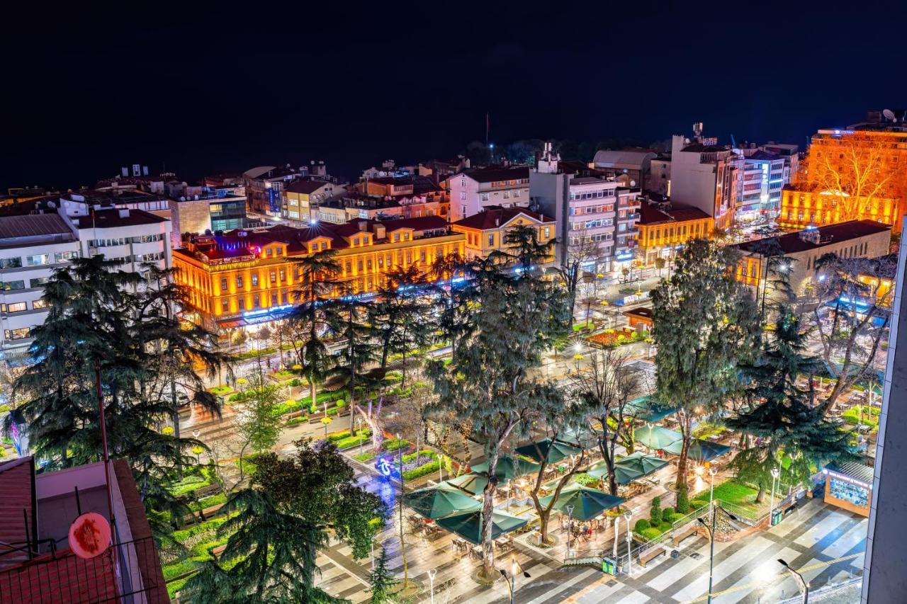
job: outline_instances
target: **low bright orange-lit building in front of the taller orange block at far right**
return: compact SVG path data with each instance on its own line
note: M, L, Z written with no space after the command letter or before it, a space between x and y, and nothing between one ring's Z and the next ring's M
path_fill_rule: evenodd
M782 229L805 229L808 226L822 227L845 222L841 193L819 190L798 190L785 188L781 193L781 213L778 226ZM860 219L874 220L892 225L894 232L901 231L902 209L898 200L873 198L868 203L857 202L865 208Z

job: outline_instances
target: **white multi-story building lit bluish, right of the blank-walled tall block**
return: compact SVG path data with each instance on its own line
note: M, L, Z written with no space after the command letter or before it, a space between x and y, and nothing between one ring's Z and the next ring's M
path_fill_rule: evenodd
M738 222L775 220L781 209L785 158L756 148L743 149L737 161L734 219ZM789 177L788 177L789 178Z

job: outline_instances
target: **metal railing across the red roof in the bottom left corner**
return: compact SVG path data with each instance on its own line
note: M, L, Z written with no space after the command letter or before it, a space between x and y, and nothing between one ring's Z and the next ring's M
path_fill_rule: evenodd
M151 537L117 543L94 558L52 552L0 571L0 601L141 604L159 589Z

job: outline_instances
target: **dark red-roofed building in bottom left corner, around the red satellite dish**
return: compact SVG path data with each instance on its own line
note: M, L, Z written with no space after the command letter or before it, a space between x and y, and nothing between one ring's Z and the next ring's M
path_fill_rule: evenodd
M103 463L34 469L32 457L0 464L0 602L170 601L125 460L110 463L109 480ZM92 512L102 520L83 517ZM73 547L69 531L77 519L109 526L112 543L94 550L91 541L75 540ZM86 550L94 555L83 557Z

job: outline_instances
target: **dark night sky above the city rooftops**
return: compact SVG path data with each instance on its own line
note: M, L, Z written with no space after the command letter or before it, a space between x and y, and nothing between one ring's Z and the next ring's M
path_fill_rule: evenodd
M647 144L701 121L803 144L907 106L902 3L31 4L5 15L4 190L139 162L354 177L453 156L486 111L498 142Z

